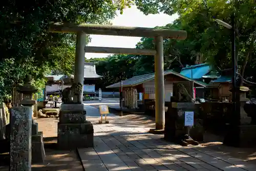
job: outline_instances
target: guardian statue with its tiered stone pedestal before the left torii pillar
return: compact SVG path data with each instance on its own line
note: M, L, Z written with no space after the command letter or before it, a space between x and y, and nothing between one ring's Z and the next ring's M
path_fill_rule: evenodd
M58 122L60 149L93 147L93 124L86 120L86 111L79 98L81 93L81 83L73 83L71 88L62 92Z

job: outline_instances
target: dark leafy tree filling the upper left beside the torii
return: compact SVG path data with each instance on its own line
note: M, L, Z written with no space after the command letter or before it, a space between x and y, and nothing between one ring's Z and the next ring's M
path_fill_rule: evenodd
M50 22L107 24L117 9L122 10L129 3L109 0L2 2L0 65L4 68L0 71L0 92L10 94L13 83L22 83L27 74L39 81L52 69L72 72L75 35L49 33ZM7 73L12 76L6 77Z

